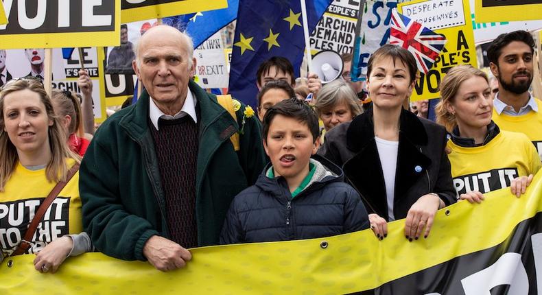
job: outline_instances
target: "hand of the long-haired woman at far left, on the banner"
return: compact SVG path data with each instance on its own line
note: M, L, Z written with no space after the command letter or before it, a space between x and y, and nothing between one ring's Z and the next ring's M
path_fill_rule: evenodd
M51 272L54 274L60 264L66 260L73 248L73 239L65 235L60 239L51 241L43 250L36 254L34 259L34 268L38 272Z

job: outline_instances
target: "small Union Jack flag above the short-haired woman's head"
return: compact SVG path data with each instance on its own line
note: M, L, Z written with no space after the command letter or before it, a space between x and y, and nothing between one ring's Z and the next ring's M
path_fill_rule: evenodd
M390 44L407 49L416 58L418 69L426 73L433 67L435 59L443 50L446 38L424 27L421 23L392 11Z

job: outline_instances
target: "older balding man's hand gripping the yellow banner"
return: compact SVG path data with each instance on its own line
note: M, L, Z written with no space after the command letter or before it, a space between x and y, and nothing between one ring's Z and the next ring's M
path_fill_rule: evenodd
M182 248L174 241L153 235L143 247L143 255L157 270L167 272L184 268L192 259L189 250Z

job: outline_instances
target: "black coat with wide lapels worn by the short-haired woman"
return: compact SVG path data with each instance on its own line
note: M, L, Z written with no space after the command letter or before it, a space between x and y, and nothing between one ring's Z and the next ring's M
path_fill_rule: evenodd
M442 126L402 110L395 176L393 213L405 218L421 196L437 193L446 205L456 202ZM360 193L369 213L388 220L384 173L375 141L373 108L326 133L318 151L344 170L346 180Z

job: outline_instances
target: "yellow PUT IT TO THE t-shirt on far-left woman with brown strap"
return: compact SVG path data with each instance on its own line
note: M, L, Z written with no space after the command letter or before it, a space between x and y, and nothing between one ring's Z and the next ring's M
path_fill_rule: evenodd
M71 167L75 161L67 159L67 163ZM32 171L17 164L5 190L0 192L0 248L4 256L11 255L19 245L34 213L55 185L47 181L45 169ZM39 252L54 239L82 231L77 172L43 216L27 254Z

